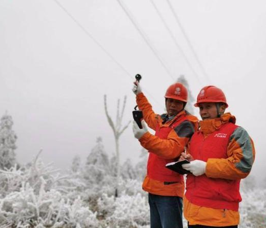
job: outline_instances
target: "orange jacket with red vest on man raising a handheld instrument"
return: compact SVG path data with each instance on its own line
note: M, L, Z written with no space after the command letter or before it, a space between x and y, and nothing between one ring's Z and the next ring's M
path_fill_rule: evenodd
M168 171L165 164L177 159L185 150L198 128L198 119L185 110L173 118L155 114L143 93L136 96L136 101L147 125L155 131L155 135L147 132L139 138L141 146L150 152L142 189L160 196L183 197L185 183L182 176Z

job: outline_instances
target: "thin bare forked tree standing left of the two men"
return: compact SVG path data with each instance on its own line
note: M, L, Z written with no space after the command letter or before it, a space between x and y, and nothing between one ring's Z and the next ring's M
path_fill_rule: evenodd
M104 100L105 100L105 114L107 116L108 123L110 127L113 130L114 133L114 138L115 138L115 151L116 151L116 188L115 188L115 196L118 196L118 184L119 184L119 178L120 178L120 157L119 157L119 137L121 134L127 129L129 126L130 121L127 123L125 127L122 128L122 118L124 115L125 107L126 107L126 102L127 102L127 96L124 97L124 102L122 105L122 110L120 112L120 99L117 100L117 109L116 109L116 122L114 124L113 120L108 114L107 111L107 102L106 102L106 95L104 95Z

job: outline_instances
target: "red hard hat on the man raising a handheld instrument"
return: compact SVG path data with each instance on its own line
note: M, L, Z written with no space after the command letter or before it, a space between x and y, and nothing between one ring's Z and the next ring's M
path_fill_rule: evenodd
M187 88L183 86L181 83L177 82L168 87L165 98L172 98L187 102L188 100Z

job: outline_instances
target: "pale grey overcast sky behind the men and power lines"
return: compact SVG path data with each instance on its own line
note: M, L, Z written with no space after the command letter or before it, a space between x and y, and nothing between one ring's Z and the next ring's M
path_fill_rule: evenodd
M153 3L175 42L152 1L121 3L161 62L118 1L0 1L0 115L7 110L13 117L17 160L28 162L43 148L45 162L65 169L76 154L85 159L98 136L111 155L104 94L113 119L117 99L127 95L125 125L135 106L136 73L156 113L164 111L167 87L183 74L194 97L206 85L224 91L228 111L254 140L252 174L265 176L266 2L169 0L207 75L167 0ZM140 149L130 125L120 137L122 161L136 162Z

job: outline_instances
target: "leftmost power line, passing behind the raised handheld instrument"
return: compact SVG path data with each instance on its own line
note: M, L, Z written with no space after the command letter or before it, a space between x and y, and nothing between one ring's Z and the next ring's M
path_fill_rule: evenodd
M78 20L75 19L74 16L71 15L71 13L68 12L68 10L62 5L60 4L57 0L54 0L54 2L76 23L76 25L85 32L86 35L88 35L93 42L101 49L103 50L119 67L122 71L124 71L131 79L135 79L133 76L131 76L131 74L87 31L87 29L84 28L84 26L82 26ZM161 106L161 104L151 95L151 93L149 93L149 91L147 91L147 89L144 89L144 91L159 105Z

